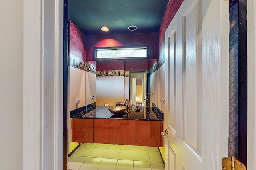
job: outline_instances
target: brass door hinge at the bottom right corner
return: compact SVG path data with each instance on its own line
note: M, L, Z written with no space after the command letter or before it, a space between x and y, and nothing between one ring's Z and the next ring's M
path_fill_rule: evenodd
M222 170L246 170L246 166L232 157L222 158Z

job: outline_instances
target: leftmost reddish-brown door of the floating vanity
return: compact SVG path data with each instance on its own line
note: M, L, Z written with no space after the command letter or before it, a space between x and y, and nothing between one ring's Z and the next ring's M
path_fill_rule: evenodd
M93 143L93 119L71 119L72 142Z

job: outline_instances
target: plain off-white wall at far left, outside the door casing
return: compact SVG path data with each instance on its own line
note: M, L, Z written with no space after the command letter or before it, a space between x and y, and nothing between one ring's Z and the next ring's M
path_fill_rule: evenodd
M23 0L0 7L0 169L22 169Z

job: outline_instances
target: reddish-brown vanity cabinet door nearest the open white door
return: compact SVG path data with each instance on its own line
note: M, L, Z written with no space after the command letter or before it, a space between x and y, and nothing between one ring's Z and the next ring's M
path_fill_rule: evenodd
M162 121L138 121L138 145L162 147Z

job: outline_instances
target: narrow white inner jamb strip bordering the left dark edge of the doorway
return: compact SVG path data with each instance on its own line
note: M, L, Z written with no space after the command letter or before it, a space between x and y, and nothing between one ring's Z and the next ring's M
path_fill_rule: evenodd
M62 16L62 17L60 17ZM55 0L54 169L62 170L63 156L63 1Z

